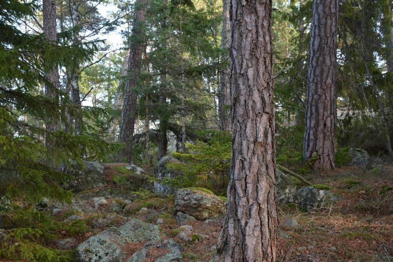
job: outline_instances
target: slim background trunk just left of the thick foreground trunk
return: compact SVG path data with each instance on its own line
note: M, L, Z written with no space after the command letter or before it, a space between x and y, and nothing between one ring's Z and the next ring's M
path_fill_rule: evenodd
M221 62L229 59L226 53L229 49L230 41L230 23L229 23L229 0L222 0L222 36L221 50L224 52L221 56ZM231 91L229 85L229 68L222 68L220 71L220 86L218 93L218 115L220 118L220 130L231 130L231 119L229 117L229 107L231 104Z

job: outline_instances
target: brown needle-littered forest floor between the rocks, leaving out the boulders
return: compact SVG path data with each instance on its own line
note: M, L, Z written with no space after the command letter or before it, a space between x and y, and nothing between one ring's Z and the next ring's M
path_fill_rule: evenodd
M113 174L107 172L107 179ZM281 204L278 208L280 224L295 218L299 228L285 228L280 225L278 245L279 261L283 262L393 262L393 165L381 165L371 171L355 166L345 166L320 174L306 174L313 184L331 186L340 196L339 202L322 209L306 212L294 204ZM317 177L317 179L315 179ZM84 192L77 198L91 199L92 194L115 192L118 185L108 183L104 189ZM110 189L108 191L108 189ZM94 191L94 190L93 190ZM107 202L111 197L106 194ZM142 194L142 193L141 193ZM113 198L115 203L116 198ZM91 212L78 212L71 208L62 209L56 221L64 221L70 215L80 215L84 230L73 235L75 244L98 234L110 227L121 225L130 219L159 224L166 238L171 238L183 246L184 262L208 262L215 254L215 245L221 231L222 218L216 220L186 222L192 226L192 240L180 237L179 226L173 216L174 196L158 197L146 193L121 211L114 212L111 205L99 207ZM142 209L142 207L146 207ZM111 216L109 220L103 220ZM101 219L101 222L97 221ZM59 239L69 237L61 231ZM56 241L47 242L48 247L57 248ZM74 245L75 248L75 245ZM124 252L134 252L130 246ZM0 261L8 261L1 260ZM27 260L26 260L27 261Z

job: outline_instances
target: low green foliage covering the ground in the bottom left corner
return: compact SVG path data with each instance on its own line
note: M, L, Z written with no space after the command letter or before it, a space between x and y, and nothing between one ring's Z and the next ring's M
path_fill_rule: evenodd
M58 222L50 215L30 209L2 214L8 234L0 243L0 257L40 262L75 260L75 250L60 251L50 243L60 235L78 237L87 232L82 221Z

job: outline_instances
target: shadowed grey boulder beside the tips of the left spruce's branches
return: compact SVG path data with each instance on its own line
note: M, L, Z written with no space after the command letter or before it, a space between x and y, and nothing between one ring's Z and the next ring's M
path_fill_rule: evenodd
M75 193L103 186L101 177L104 174L104 166L98 162L83 161L84 167L74 166L68 173L72 181L68 182L68 189Z

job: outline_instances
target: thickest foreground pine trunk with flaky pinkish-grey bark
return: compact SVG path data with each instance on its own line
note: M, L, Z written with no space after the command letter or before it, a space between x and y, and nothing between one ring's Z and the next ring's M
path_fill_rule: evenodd
M272 1L233 1L230 12L232 159L217 251L227 262L275 262Z

